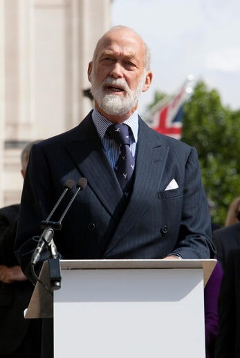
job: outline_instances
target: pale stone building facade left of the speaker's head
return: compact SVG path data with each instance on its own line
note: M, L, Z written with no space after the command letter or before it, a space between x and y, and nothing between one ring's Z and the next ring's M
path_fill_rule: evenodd
M0 0L0 207L20 200L26 142L92 108L86 70L110 10L111 0Z

